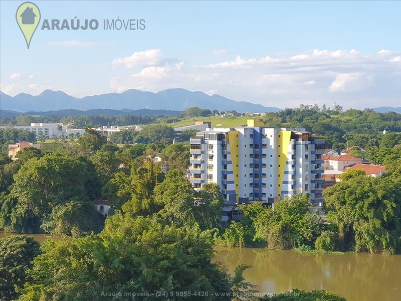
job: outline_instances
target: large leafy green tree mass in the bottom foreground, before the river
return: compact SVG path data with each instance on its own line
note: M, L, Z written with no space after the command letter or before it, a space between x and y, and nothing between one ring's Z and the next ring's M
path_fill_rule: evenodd
M34 281L20 300L94 300L107 298L102 292L155 291L181 299L174 295L177 290L208 294L191 295L191 300L229 300L232 292L228 274L211 262L210 233L196 226L177 228L154 217L116 213L100 235L47 241L42 249L34 259Z

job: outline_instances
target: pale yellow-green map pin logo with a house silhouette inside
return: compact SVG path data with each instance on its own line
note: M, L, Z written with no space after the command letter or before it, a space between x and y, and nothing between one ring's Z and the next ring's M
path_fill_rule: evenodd
M41 21L41 12L36 4L32 2L24 2L17 9L16 19L29 49L32 36Z

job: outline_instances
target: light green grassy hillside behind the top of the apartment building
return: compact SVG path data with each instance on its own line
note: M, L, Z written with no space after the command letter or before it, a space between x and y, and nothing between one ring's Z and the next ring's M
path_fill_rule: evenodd
M259 117L254 116L240 116L240 117L220 117L220 116L211 116L211 117L190 117L185 120L181 120L179 122L166 123L169 126L184 126L195 124L195 121L211 121L213 127L236 127L247 124L247 119L260 119Z

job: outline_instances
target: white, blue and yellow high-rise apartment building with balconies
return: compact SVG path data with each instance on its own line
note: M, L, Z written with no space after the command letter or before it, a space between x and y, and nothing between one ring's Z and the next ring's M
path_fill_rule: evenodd
M309 193L322 204L324 140L302 129L269 128L248 120L237 128L207 128L190 139L190 182L220 185L226 204L274 203Z

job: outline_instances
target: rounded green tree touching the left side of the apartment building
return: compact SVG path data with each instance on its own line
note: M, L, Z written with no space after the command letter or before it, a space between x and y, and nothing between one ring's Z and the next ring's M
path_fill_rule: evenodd
M160 158L171 169L185 170L189 166L189 144L170 144L160 153Z

